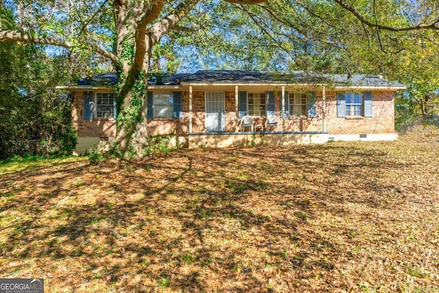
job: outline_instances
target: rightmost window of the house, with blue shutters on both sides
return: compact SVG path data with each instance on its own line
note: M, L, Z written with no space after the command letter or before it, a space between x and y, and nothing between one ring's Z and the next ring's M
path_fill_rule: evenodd
M337 93L337 117L372 117L372 92Z

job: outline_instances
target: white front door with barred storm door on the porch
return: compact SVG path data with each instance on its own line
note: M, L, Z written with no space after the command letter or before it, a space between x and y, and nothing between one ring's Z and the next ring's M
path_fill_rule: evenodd
M206 130L207 132L226 130L226 110L223 92L206 92Z

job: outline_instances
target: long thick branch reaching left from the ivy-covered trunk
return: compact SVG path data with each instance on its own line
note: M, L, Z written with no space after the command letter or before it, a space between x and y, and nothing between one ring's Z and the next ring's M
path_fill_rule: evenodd
M56 40L55 38L50 37L32 36L27 32L17 32L12 30L0 31L0 42L23 42L40 45L54 45L68 49L74 47L73 43L67 40ZM112 60L112 62L117 62L117 56L106 49L102 49L101 47L93 44L88 45L88 49Z

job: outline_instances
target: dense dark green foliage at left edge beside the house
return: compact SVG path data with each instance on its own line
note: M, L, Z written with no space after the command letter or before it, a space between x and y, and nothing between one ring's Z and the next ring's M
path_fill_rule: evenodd
M54 91L52 62L35 45L0 43L0 159L72 153L71 99Z

